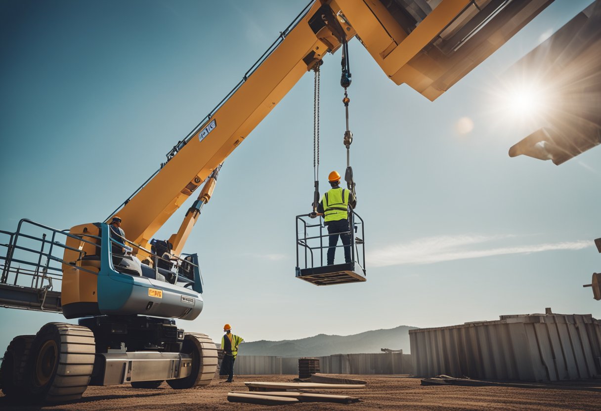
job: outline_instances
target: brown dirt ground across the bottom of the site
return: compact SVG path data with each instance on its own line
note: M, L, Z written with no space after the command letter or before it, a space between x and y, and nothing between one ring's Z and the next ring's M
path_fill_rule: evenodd
M89 387L77 403L23 406L0 394L0 409L12 410L601 410L601 380L544 385L544 388L506 386L421 386L406 376L344 376L367 380L367 388L330 391L362 398L355 404L297 403L259 406L228 403L228 391L248 391L245 381L291 382L295 376L236 376L233 383L215 379L211 385L176 391L163 383L157 389L129 385ZM323 391L326 392L326 391Z

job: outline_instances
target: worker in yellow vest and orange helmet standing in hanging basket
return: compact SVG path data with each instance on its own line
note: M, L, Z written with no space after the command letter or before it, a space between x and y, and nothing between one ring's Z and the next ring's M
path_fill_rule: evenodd
M328 266L334 264L338 237L344 245L344 261L351 263L349 207L355 209L357 200L349 189L340 187L338 171L332 171L328 176L328 181L332 188L323 195L322 201L317 206L317 213L323 215L323 224L328 227Z

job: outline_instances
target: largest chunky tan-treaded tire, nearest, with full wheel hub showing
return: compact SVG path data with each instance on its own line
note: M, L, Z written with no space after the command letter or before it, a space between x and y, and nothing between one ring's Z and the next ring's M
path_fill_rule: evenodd
M31 343L26 367L28 395L34 401L79 400L94 368L94 334L87 327L48 323Z

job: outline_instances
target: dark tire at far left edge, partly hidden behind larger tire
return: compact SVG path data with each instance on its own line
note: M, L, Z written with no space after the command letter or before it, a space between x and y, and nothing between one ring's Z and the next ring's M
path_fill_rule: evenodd
M0 365L0 389L8 398L26 397L25 365L35 335L19 335L8 344Z

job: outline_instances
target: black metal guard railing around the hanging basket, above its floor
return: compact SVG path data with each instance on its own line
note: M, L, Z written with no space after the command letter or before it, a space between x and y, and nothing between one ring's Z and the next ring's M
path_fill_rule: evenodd
M354 211L349 213L349 231L337 234L350 234L351 261L358 264L365 273L365 230L361 216ZM296 266L301 269L325 266L329 235L328 228L323 225L322 216L318 218L311 218L308 214L296 216ZM344 244L339 238L335 248L343 247ZM343 252L341 250L336 253L338 258L344 258Z

